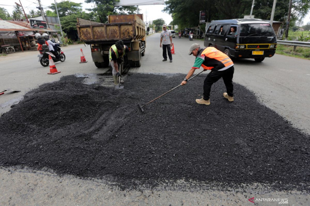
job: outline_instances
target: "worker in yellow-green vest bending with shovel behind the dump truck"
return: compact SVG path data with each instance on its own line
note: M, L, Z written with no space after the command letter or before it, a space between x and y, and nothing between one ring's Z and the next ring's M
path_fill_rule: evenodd
M117 61L123 62L123 57L128 51L128 47L124 45L122 40L113 44L109 50L109 60L112 66L112 77L115 85L117 85L118 77L121 76ZM124 81L121 79L120 83L124 83Z

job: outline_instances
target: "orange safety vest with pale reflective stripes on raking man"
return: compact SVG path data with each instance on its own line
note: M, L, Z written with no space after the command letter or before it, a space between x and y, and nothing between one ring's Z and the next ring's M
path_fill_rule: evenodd
M218 69L218 71L223 71L225 69L228 69L229 67L231 67L233 65L232 60L223 52L217 50L214 47L207 47L205 48L202 53L201 56L204 55L205 57L209 57L210 59L215 59L217 61L219 61L219 63L223 64L224 67L221 69ZM213 69L214 67L208 67L206 65L201 65L202 68L204 69Z

